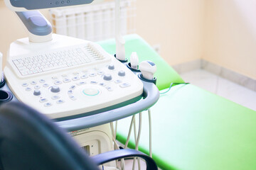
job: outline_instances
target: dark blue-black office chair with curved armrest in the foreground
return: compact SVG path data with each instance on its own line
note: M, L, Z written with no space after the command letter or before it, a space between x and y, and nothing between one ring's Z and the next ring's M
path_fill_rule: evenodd
M98 169L115 159L142 157L146 169L157 169L153 159L132 149L88 157L83 149L45 115L23 103L0 107L0 169Z

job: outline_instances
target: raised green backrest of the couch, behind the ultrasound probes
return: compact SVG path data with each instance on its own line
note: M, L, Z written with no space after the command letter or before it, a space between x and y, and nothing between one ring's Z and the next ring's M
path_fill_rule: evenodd
M144 60L151 60L156 64L156 86L159 88L159 90L168 88L171 82L183 83L183 80L177 74L177 72L169 67L169 64L167 64L145 40L139 37L139 35L126 35L124 36L124 40L126 42L125 55L127 59L129 59L132 52L137 52L139 56L139 62ZM100 44L111 55L114 55L114 39L98 42L98 44Z

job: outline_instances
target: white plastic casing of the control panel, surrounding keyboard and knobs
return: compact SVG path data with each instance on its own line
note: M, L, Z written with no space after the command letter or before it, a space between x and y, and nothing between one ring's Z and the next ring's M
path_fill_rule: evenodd
M90 56L90 52L88 53L83 49L83 52L90 57L91 62L27 75L22 75L14 64L14 60L17 59L45 55L49 52L58 52L70 48L83 48L90 45L95 47L95 54L103 56L102 60L98 60L97 55L95 55L96 59L94 60L93 56ZM105 52L100 45L86 40L55 34L53 34L53 40L50 42L32 43L28 41L28 38L23 38L11 44L8 56L4 73L11 91L18 100L36 108L50 118L63 118L106 108L136 98L142 95L143 92L142 81L133 72L112 55ZM114 69L109 69L110 65L114 65ZM122 74L119 74L119 72ZM125 75L123 75L124 73ZM85 74L87 77L85 77ZM105 80L105 74L110 74L112 79ZM84 79L81 78L82 76ZM71 81L65 83L63 81L65 77L69 77ZM74 77L79 77L79 79L73 81ZM44 80L43 83L40 82L42 79ZM61 81L61 84L56 85L56 80ZM36 84L31 84L33 81ZM104 86L101 85L102 83ZM23 84L26 86L23 86ZM49 86L44 87L43 84ZM60 92L53 93L51 91L53 86L58 86ZM71 86L75 86L72 94L75 96L75 100L73 100L74 98L71 99L70 94L68 94ZM41 95L35 96L33 91L38 87ZM27 88L31 90L26 91ZM99 91L99 93L90 96L85 94L84 90L89 91L89 94L90 92L93 94L94 91ZM53 100L53 96L59 96L58 100L61 99L64 103L57 103L58 100ZM42 98L46 98L47 101L39 102ZM52 105L45 106L46 103Z

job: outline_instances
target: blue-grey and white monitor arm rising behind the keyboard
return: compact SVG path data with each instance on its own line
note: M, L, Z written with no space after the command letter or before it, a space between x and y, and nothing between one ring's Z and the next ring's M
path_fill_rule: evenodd
M52 26L39 11L16 12L28 30L30 42L47 42L52 40Z

